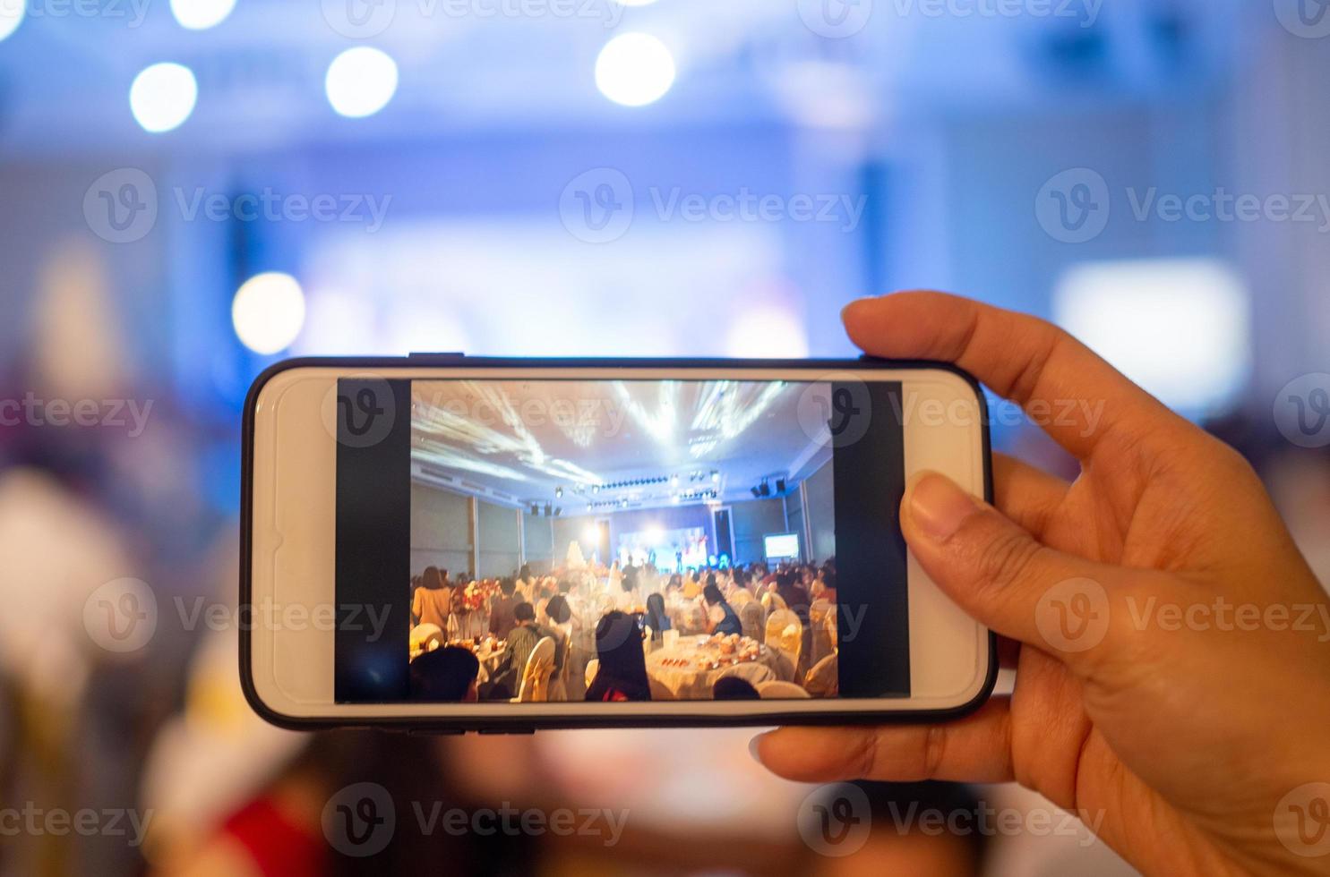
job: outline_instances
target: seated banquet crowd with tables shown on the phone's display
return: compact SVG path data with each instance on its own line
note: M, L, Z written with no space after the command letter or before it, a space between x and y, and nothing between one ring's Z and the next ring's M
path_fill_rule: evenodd
M834 558L681 573L618 561L547 574L523 565L513 575L489 579L452 578L428 566L411 587L410 675L418 700L837 694ZM714 663L666 658L690 648L712 650ZM656 651L654 663L664 667L649 660ZM670 686L670 667L704 678L705 690L686 694Z

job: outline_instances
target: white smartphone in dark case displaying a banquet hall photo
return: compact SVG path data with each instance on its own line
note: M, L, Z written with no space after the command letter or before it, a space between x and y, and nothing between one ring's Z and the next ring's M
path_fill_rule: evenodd
M936 720L992 634L906 547L991 498L947 364L299 359L245 405L246 696L290 728Z

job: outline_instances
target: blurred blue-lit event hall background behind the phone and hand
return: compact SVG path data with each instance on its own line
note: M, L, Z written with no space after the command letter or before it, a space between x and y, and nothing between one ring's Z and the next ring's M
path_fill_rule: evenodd
M866 787L825 854L829 792L746 731L267 728L242 401L287 355L853 355L843 304L946 288L1236 444L1326 581L1327 74L1325 0L0 0L0 874L1125 872L1084 829L884 816L1060 825L1008 787ZM321 821L360 781L396 805L368 858Z

